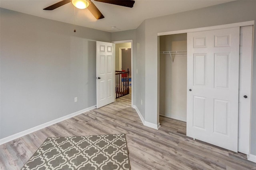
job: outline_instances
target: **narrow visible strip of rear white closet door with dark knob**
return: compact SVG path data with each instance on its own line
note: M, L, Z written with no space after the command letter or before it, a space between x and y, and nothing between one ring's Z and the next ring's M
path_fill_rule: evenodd
M238 152L247 155L250 154L252 30L252 25L240 27Z

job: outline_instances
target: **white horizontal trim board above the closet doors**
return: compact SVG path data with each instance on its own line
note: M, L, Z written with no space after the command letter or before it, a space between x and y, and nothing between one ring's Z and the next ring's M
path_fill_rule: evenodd
M157 35L165 36L165 35L171 35L171 34L182 34L182 33L188 33L188 32L217 30L217 29L223 29L223 28L233 28L233 27L248 26L248 25L254 25L254 21L238 22L238 23L233 23L233 24L224 24L224 25L217 25L217 26L208 26L208 27L202 27L202 28L193 28L193 29L188 29L188 30L159 32Z

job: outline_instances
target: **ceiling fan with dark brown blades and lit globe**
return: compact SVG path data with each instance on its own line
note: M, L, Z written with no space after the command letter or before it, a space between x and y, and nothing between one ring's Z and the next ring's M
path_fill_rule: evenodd
M95 0L95 1L119 5L119 6L125 6L129 8L132 8L135 2L134 0ZM94 3L91 0L62 0L60 2L52 4L51 6L44 8L44 10L54 10L62 5L68 4L69 2L72 2L72 4L79 9L88 8L88 10L92 13L92 15L97 20L104 18L100 10L94 5Z

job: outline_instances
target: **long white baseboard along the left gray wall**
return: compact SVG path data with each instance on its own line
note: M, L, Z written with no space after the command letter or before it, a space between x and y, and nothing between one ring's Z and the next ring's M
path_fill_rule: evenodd
M93 110L93 109L95 109L95 108L96 108L96 105L91 106L91 107L86 108L86 109L83 109L83 110L79 110L79 111L74 112L74 113L72 113L72 114L68 114L68 115L63 116L63 117L61 117L61 118L57 118L57 119L52 120L52 121L50 121L50 122L46 122L46 123L44 123L44 124L40 124L40 125L38 125L38 126L35 126L35 127L33 127L33 128L24 130L24 131L22 131L22 132L18 132L18 133L16 133L16 134L11 135L11 136L7 136L7 137L5 137L5 138L0 139L0 145L1 145L1 144L5 144L6 142L10 142L10 141L12 141L12 140L14 140L14 139L20 138L20 137L22 137L22 136L25 136L25 135L27 135L27 134L36 132L37 130L40 130L40 129L42 129L42 128L46 128L46 127L48 127L48 126L51 126L51 125L56 124L56 123L58 123L58 122L61 122L61 121L63 121L63 120L72 118L72 117L77 116L77 115L79 115L79 114L82 114L82 113L84 113L84 112L88 112L88 111Z

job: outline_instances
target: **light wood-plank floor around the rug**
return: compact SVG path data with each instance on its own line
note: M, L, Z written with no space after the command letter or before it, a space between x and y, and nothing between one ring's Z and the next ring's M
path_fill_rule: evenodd
M256 163L186 137L186 123L160 116L159 130L142 125L131 96L0 146L0 169L19 170L47 137L125 133L131 170L255 170Z

